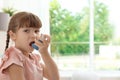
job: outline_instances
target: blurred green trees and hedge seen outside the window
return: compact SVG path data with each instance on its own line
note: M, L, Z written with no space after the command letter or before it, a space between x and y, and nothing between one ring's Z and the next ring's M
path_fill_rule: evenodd
M108 21L107 6L95 1L94 7L94 41L109 42L112 38L113 26ZM60 55L88 54L89 17L89 7L84 7L81 13L72 14L72 12L62 9L57 0L52 0L50 2L52 53L57 51ZM73 42L78 42L78 44L72 44ZM79 42L87 44L79 44ZM99 52L99 45L95 45L96 53Z

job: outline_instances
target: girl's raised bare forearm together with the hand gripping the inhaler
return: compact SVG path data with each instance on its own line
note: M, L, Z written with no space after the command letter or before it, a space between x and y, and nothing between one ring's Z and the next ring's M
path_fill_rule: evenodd
M42 35L42 42L36 41L36 44L39 46L39 52L44 61L43 75L48 78L48 80L59 80L59 72L57 65L53 61L52 57L48 52L48 47L50 44L50 36Z

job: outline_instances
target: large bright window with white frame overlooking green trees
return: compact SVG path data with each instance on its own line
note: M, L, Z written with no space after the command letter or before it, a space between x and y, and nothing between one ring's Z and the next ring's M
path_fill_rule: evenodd
M59 69L119 70L118 2L77 1L50 2L51 51Z

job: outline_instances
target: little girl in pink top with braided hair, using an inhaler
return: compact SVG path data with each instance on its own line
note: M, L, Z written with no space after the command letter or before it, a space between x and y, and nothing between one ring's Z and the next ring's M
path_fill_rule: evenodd
M32 13L18 12L12 16L0 64L0 80L59 80L58 68L48 52L50 36L43 34L39 41L41 26L38 16ZM9 47L10 39L14 46ZM38 46L39 54L33 53L33 43Z

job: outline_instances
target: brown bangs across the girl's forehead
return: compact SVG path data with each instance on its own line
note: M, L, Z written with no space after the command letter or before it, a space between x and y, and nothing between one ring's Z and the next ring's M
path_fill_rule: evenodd
M19 22L20 22L19 28L21 27L41 28L42 27L42 23L40 19L37 16L32 14L21 17Z

